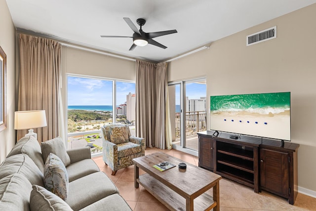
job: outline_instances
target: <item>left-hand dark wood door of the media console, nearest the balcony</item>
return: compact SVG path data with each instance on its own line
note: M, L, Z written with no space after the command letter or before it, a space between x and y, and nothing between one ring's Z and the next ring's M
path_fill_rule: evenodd
M214 139L198 137L198 166L214 169Z

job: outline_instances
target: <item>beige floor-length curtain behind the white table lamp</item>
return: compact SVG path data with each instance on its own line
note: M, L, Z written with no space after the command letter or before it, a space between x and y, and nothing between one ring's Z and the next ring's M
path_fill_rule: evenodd
M34 129L38 141L59 135L58 112L61 76L61 44L20 34L18 111L45 110L47 127ZM20 139L28 131L18 130Z

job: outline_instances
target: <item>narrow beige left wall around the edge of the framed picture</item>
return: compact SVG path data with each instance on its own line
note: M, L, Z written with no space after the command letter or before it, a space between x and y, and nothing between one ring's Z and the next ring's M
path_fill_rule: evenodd
M0 0L0 46L6 54L6 121L7 128L0 132L0 163L15 144L15 28L5 0Z

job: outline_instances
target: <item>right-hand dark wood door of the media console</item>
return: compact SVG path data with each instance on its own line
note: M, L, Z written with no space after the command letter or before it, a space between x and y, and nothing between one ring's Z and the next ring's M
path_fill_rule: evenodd
M288 153L260 149L260 185L262 189L288 198L288 159Z

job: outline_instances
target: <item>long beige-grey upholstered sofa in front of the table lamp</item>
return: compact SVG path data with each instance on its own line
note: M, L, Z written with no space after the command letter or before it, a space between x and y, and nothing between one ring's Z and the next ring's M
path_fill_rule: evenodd
M91 159L88 147L67 154L69 183L63 201L43 188L45 161L39 142L33 136L20 139L0 165L0 210L131 211L115 184Z

